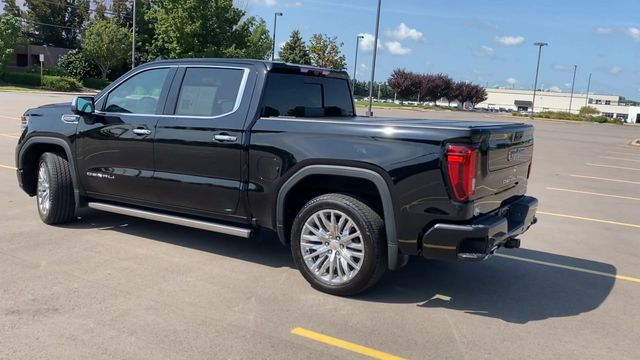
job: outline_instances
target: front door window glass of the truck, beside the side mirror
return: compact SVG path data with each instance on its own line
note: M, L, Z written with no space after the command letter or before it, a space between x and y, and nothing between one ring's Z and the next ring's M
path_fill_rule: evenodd
M167 80L169 68L141 72L125 80L111 91L105 112L156 114L160 94Z

